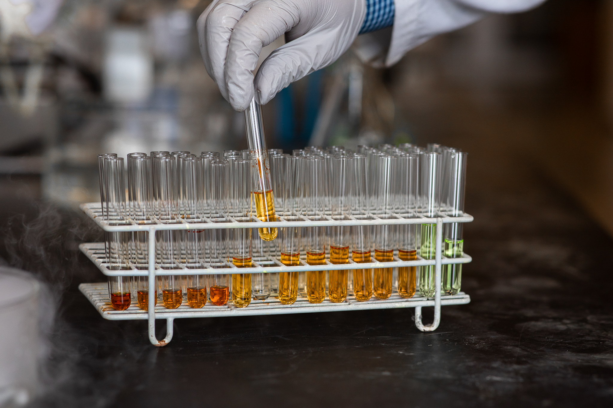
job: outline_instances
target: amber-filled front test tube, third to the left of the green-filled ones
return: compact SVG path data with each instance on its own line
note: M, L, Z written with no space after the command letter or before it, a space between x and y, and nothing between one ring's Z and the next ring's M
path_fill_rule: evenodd
M355 188L351 215L363 217L368 213L368 174L366 171L367 157L362 154L354 155L353 168L355 177ZM357 264L371 262L370 243L371 228L369 226L351 227L351 257ZM365 302L373 295L373 270L355 269L352 270L353 294L358 302Z

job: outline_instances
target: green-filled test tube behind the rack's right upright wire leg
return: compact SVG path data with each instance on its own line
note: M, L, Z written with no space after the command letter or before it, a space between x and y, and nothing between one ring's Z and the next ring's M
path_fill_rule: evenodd
M430 145L428 145L430 147ZM421 215L436 217L440 210L441 154L425 152L419 156L419 205ZM421 224L419 255L434 259L436 254L436 224ZM419 267L419 292L433 297L435 292L435 265Z

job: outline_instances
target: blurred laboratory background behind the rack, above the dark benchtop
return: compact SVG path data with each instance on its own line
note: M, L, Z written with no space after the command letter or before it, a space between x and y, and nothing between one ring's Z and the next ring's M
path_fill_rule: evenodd
M54 0L35 10L47 18L41 32L4 34L4 199L73 208L96 201L101 152L245 148L243 115L221 97L200 58L195 23L207 4ZM613 232L605 220L611 193L582 182L610 181L613 171L606 164L612 18L606 1L552 1L440 35L387 69L364 65L349 51L265 106L268 147L468 147L474 132L487 133L479 143L514 139L514 154L534 155L535 165ZM592 153L577 157L579 141Z

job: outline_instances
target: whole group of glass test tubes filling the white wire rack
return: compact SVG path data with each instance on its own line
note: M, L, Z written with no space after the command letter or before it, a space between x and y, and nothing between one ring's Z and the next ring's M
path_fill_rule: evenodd
M292 155L281 150L253 154L249 150L151 152L128 155L128 196L123 158L99 156L102 216L109 224L127 220L148 223L251 221L318 221L349 218L438 217L463 215L466 153L428 144L306 147ZM264 167L269 185L262 185ZM106 232L109 269L148 269L147 232ZM156 232L156 267L200 269L218 275L158 276L156 302L166 308L205 303L245 307L252 299L278 297L292 304L299 297L311 303L388 299L392 291L408 298L419 292L432 297L434 267L325 270L315 272L235 273L252 259L272 257L284 265L390 262L435 256L436 224L169 230ZM462 223L444 224L444 256L462 256ZM373 259L374 258L374 259ZM256 261L262 263L260 261ZM226 271L224 271L226 269ZM419 269L419 271L417 271ZM419 272L419 273L418 273ZM443 265L445 294L460 290L462 265ZM232 276L232 278L230 278ZM116 310L136 301L147 310L148 277L109 278Z

